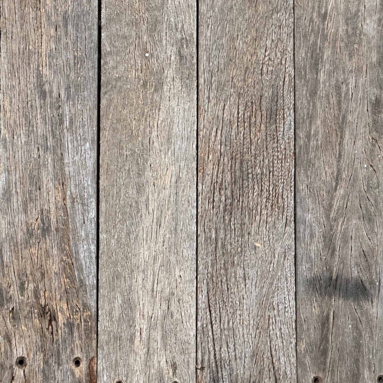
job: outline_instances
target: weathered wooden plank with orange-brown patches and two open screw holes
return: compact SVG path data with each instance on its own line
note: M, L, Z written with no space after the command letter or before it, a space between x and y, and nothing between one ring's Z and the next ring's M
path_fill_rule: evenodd
M3 0L0 28L0 381L94 383L97 5Z

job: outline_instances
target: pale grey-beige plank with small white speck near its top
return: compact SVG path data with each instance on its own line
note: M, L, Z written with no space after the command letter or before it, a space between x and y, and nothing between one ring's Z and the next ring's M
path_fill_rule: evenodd
M195 381L195 2L102 3L99 379Z

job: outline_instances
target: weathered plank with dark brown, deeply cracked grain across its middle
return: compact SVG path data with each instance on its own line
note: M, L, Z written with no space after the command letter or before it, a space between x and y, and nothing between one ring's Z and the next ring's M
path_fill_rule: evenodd
M293 3L200 0L198 382L294 382Z

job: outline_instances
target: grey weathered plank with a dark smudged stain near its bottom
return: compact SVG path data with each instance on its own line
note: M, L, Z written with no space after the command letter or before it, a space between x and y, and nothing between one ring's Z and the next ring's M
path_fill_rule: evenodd
M297 0L295 10L298 381L376 382L383 4Z

